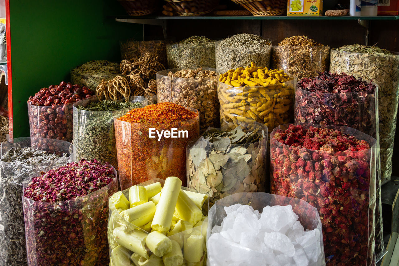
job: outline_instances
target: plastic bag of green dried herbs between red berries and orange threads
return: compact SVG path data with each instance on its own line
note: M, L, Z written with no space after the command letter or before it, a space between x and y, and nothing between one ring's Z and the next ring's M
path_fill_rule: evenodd
M73 104L73 135L77 160L96 159L111 163L117 169L117 147L114 117L120 117L133 108L147 104L144 97L99 101L87 99Z

